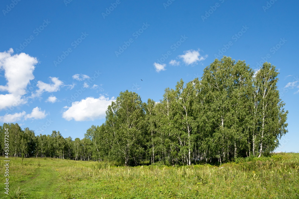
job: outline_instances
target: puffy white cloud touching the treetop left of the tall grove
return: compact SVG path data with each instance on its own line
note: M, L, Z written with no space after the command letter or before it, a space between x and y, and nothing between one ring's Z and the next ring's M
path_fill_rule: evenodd
M75 101L71 107L62 113L62 118L70 121L90 121L95 119L105 118L106 110L114 98L105 98L101 95L99 98L88 97L81 101Z

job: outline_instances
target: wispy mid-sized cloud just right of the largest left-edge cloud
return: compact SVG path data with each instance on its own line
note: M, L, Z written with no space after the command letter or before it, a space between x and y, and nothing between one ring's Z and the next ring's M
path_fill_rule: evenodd
M63 86L63 82L60 81L57 77L50 77L53 84L46 84L42 81L37 82L37 87L39 88L36 90L36 93L32 94L32 97L39 97L42 95L43 92L57 92L60 90L60 87Z

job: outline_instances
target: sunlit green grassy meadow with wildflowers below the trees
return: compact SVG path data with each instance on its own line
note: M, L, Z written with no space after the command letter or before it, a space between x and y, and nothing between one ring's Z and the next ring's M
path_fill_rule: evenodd
M0 158L0 198L6 196L4 159ZM299 198L298 153L239 159L219 167L123 167L55 158L9 160L7 198Z

